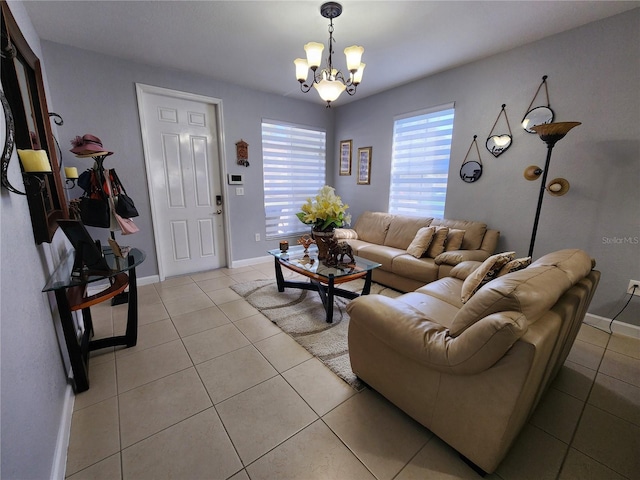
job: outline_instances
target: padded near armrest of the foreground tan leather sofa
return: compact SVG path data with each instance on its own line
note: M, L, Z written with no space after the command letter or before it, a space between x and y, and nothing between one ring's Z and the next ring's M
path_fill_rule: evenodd
M500 312L476 322L460 336L429 321L413 307L383 295L367 295L347 306L351 316L349 343L357 342L358 328L433 370L473 375L494 365L527 330L520 312Z

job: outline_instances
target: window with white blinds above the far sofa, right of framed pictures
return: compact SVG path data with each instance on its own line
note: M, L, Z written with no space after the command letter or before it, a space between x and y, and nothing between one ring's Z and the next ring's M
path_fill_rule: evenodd
M453 104L396 117L389 213L444 218Z

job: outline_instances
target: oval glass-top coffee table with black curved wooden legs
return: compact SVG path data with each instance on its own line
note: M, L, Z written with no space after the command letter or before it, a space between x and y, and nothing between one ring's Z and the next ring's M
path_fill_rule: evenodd
M353 262L339 263L335 267L329 267L318 260L318 249L315 245L309 248L308 254L304 253L302 246L290 247L287 252L279 249L269 250L269 253L275 260L278 291L284 292L288 287L318 292L327 312L327 323L333 322L333 297L354 299L360 295L368 295L371 290L371 272L381 266L379 263L354 256ZM285 280L282 267L307 277L309 282ZM341 283L359 278L364 278L364 287L360 293L336 287Z

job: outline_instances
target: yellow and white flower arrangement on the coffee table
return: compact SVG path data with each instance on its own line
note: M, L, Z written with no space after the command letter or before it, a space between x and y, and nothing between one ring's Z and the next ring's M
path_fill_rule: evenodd
M346 213L349 205L342 203L335 189L325 185L315 199L307 198L301 212L296 213L300 221L313 225L317 230L333 230L351 224L351 214Z

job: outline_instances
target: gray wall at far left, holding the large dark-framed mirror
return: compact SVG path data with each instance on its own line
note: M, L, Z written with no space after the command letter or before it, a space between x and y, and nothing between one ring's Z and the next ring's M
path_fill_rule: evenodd
M10 2L9 6L32 50L42 58L23 5ZM0 128L4 138L4 124ZM22 188L15 152L9 177ZM52 314L41 291L67 246L59 235L51 245L36 246L26 198L4 188L0 189L0 219L0 477L49 478L55 468L67 375L58 347L55 325L59 322L52 319L57 314Z

